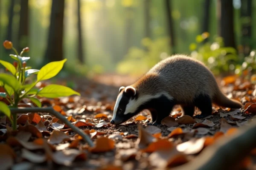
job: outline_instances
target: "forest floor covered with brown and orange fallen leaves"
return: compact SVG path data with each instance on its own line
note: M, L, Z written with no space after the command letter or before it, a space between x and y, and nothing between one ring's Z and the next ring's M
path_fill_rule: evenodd
M130 85L136 78L107 75L94 81L70 78L81 96L59 99L41 98L70 122L90 135L95 147L48 113L19 114L17 132L8 127L7 119L0 120L0 164L3 169L101 169L135 170L174 167L192 161L221 136L236 133L247 125L256 113L256 90L250 81L237 77L222 79L222 91L238 99L242 109L220 108L213 105L206 119L182 116L179 106L162 121L163 125L148 126L150 115L143 111L122 125L111 125L113 107L119 87ZM38 84L39 87L49 82ZM65 80L59 80L65 85ZM29 100L24 104L32 105ZM26 105L24 105L26 106ZM200 114L196 110L195 114ZM32 125L31 125L32 124ZM35 125L35 126L34 126ZM142 126L140 126L142 125ZM33 126L33 127L31 127ZM35 128L34 128L35 127ZM47 141L47 145L44 142ZM252 152L251 154L255 154ZM255 159L242 159L241 168L256 168ZM1 168L2 169L2 168Z

